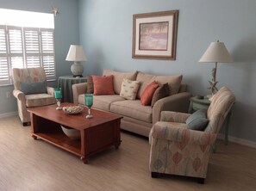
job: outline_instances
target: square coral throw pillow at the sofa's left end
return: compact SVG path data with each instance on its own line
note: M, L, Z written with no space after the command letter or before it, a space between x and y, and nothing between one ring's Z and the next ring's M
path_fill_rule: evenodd
M114 95L113 75L107 77L92 76L93 95Z

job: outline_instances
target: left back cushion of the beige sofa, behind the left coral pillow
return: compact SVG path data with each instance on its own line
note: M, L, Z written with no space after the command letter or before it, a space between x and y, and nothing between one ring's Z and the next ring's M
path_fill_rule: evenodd
M113 75L114 77L114 90L116 94L120 94L122 87L122 80L124 78L129 80L135 80L137 77L137 71L132 72L121 72L121 71L110 71L107 69L103 70L103 76Z

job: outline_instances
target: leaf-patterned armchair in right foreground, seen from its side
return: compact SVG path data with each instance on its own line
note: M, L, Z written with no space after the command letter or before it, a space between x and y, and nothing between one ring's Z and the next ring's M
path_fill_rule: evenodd
M213 95L207 111L209 124L204 131L187 128L185 120L190 114L162 112L149 134L152 177L158 177L159 173L192 176L203 183L217 133L234 100L234 94L226 87Z

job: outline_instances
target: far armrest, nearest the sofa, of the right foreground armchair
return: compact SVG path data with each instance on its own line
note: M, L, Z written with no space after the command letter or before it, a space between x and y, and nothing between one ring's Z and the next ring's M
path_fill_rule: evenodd
M160 121L185 123L189 116L190 114L186 113L162 111Z

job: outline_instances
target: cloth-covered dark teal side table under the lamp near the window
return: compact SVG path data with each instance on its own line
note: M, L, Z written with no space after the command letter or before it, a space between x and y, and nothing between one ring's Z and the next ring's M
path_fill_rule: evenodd
M58 78L58 87L62 90L62 102L73 102L72 84L86 83L86 77L63 76Z

